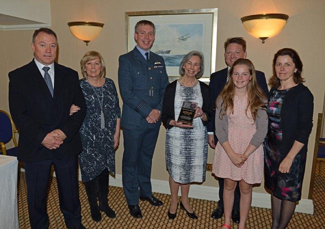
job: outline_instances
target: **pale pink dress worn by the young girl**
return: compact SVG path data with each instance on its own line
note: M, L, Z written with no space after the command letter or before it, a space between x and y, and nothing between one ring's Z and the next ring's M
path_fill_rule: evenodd
M246 115L247 99L239 100L234 97L233 114L228 115L228 141L232 149L237 153L243 153L247 148L251 137L256 132L256 125L249 110ZM214 150L212 172L221 178L232 180L243 179L246 183L260 183L263 175L263 146L260 145L252 152L245 163L236 167L217 142Z

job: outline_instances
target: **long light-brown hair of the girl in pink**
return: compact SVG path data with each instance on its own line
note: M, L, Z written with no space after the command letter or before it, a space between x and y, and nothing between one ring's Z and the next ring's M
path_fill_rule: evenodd
M219 114L219 118L222 119L222 116L226 115L227 111L233 114L233 99L235 95L235 85L232 80L232 72L233 67L239 64L246 65L248 67L249 73L251 75L251 79L249 80L246 90L247 90L247 107L246 107L246 115L247 110L249 109L253 120L256 120L257 110L260 107L265 107L265 101L267 100L265 93L259 87L256 80L256 73L253 63L249 59L237 59L232 64L232 67L228 71L228 82L225 84L223 89L221 90L219 96L216 98L215 105L217 106L219 101L221 100L221 111ZM248 116L248 115L247 115Z

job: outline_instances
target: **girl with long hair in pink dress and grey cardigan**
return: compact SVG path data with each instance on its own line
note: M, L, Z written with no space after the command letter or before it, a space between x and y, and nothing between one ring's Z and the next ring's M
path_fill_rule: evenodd
M231 228L233 192L239 181L240 221L244 228L251 204L252 184L263 174L263 145L267 132L266 95L258 86L254 65L237 59L228 72L228 82L216 99L215 146L212 172L224 178L224 223Z

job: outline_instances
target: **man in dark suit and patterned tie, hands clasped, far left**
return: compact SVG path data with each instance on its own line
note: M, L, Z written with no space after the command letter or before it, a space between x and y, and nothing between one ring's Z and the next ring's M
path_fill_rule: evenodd
M9 108L19 129L18 160L24 162L31 228L48 228L46 195L54 165L60 209L67 228L81 224L77 154L82 150L78 129L86 105L78 73L54 62L57 38L49 28L32 36L34 59L9 72ZM69 115L71 104L80 111Z

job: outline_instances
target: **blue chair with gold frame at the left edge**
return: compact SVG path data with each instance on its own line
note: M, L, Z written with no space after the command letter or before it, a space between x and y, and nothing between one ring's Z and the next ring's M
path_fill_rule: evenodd
M18 130L12 121L10 115L0 109L0 153L8 156L17 156L17 140L15 134ZM12 139L14 147L7 149L5 144Z

